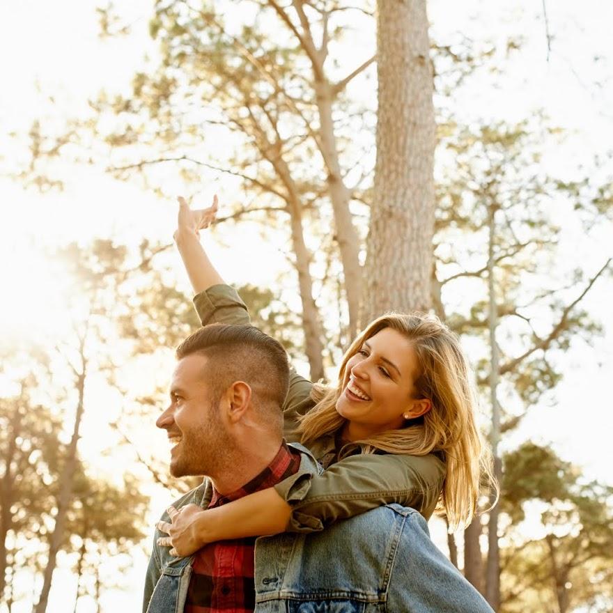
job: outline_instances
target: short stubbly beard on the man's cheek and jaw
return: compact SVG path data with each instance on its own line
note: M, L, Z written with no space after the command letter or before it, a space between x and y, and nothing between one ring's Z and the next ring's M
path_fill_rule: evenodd
M198 428L181 435L170 461L172 476L215 476L219 467L228 466L231 438L219 416L219 401L211 403Z

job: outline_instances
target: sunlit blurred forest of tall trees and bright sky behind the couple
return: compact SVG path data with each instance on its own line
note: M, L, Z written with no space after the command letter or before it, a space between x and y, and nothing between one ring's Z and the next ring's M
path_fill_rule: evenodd
M77 104L42 75L1 116L0 612L139 607L153 522L194 486L168 476L154 425L199 325L174 199L215 192L212 259L304 375L334 378L390 308L462 336L502 496L432 529L492 607L613 610L613 481L551 444L559 422L586 449L612 426L582 368L604 391L613 60L590 28L613 12L448 5L428 3L429 26L417 0L59 6L103 51L79 68L65 49L75 91L96 84ZM570 85L534 95L552 84Z

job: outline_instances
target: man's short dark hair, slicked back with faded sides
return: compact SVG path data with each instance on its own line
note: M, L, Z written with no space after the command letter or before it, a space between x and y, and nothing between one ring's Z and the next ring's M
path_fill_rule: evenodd
M262 417L282 427L290 368L281 343L251 325L210 324L194 332L176 349L177 359L206 357L203 377L219 401L236 381L251 387L253 404Z

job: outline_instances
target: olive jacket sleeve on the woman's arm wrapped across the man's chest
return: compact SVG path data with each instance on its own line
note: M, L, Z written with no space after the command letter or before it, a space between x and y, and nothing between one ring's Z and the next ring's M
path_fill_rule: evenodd
M432 453L368 453L344 458L320 475L288 477L274 489L292 507L286 531L312 532L392 503L430 518L444 477L444 462Z

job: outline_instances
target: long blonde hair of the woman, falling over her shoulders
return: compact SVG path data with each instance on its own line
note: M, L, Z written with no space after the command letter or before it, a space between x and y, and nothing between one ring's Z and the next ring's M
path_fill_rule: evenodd
M343 393L348 360L362 349L364 341L384 328L409 339L417 354L420 374L414 381L415 398L428 398L432 408L422 418L398 430L387 430L356 441L362 453L381 449L388 453L425 456L442 451L447 464L437 511L447 515L451 530L465 527L476 511L483 476L497 491L491 456L475 421L478 396L472 369L458 336L439 318L423 313L387 313L368 325L343 357L336 387L313 387L316 406L300 418L297 432L309 444L318 437L335 433L346 419L336 412Z

